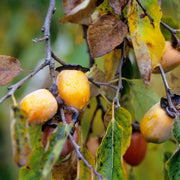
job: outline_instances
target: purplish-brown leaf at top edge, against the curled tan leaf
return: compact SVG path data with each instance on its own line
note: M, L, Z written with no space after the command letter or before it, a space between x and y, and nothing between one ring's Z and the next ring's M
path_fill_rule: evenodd
M79 5L82 0L63 0L63 12L64 14L68 14L71 12L73 8Z

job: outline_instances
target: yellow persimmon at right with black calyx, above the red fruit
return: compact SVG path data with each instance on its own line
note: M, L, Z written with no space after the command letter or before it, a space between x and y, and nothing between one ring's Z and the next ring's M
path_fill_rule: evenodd
M163 143L172 136L173 125L174 119L157 103L145 113L140 130L146 141Z

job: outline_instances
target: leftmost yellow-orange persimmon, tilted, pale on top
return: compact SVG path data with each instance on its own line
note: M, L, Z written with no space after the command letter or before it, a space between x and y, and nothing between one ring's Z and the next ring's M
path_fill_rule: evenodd
M55 97L47 89L38 89L25 96L20 107L28 115L29 125L43 124L52 118L58 109Z

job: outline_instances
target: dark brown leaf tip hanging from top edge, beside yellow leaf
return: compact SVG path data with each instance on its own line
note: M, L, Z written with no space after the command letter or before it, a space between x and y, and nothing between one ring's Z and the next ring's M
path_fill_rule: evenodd
M127 5L128 0L108 0L108 3L114 9L116 14L121 15L121 12Z

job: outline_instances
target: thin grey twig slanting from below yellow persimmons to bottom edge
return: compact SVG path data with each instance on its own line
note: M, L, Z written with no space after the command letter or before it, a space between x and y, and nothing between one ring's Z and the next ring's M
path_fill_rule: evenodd
M60 113L61 113L61 119L62 119L62 122L64 124L66 124L66 120L65 120L65 116L64 116L64 110L62 107L60 107ZM71 143L72 145L74 146L74 149L76 151L76 154L77 154L77 158L79 160L82 160L84 162L84 164L86 164L86 166L93 171L93 173L96 175L96 177L99 179L99 180L103 180L102 178L102 175L99 174L98 172L96 172L93 167L88 163L88 161L83 157L83 155L81 154L81 148L80 146L78 146L78 144L76 144L76 142L73 140L73 137L71 136L71 134L69 133L68 135L69 139L71 140Z

